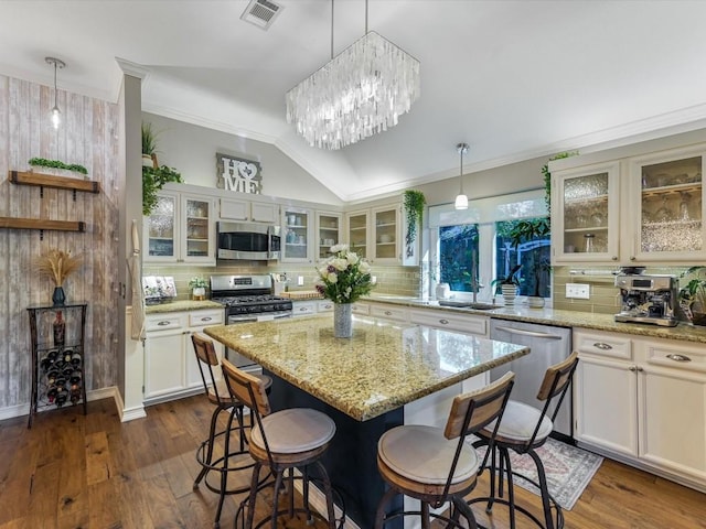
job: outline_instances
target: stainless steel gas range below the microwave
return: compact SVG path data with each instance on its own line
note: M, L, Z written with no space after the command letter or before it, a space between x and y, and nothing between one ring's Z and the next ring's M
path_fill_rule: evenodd
M272 294L270 276L211 276L211 300L225 306L226 325L291 317L291 300ZM226 348L226 358L246 370L258 370L249 358Z

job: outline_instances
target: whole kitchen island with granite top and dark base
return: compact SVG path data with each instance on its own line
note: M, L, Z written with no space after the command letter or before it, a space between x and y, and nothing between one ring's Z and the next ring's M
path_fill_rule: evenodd
M308 407L335 421L336 435L323 463L345 500L346 515L368 528L385 489L376 465L379 436L408 421L406 409L421 399L458 395L464 380L530 349L371 317L354 317L353 328L352 338L334 338L333 319L325 314L204 332L274 376L274 410ZM438 409L430 422L445 420L448 412L448 407ZM395 507L400 505L398 498Z

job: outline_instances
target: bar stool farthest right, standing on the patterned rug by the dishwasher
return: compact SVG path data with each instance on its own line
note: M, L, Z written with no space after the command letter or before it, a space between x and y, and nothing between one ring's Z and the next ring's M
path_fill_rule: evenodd
M516 510L527 516L541 528L560 529L564 527L561 507L549 495L544 465L536 449L542 446L552 433L554 419L571 385L571 378L577 365L578 353L574 352L564 361L547 368L537 395L537 399L544 401L542 410L537 410L523 402L510 400L505 413L500 420L500 425L491 423L477 433L481 440L473 443L473 445L477 447L488 445L488 453L492 454L490 464L490 497L472 498L469 500L469 504L486 501L485 511L489 515L492 512L494 503L506 505L510 508L511 529L515 528ZM493 443L491 443L491 440L493 440ZM517 454L528 454L532 457L537 467L539 483L535 483L526 476L513 472L510 463L510 450L513 450ZM544 521L539 520L525 507L515 505L513 475L523 477L539 489ZM505 477L507 479L507 499L503 498L503 478ZM495 478L498 478L498 486L495 486ZM556 510L556 516L552 516L552 508Z

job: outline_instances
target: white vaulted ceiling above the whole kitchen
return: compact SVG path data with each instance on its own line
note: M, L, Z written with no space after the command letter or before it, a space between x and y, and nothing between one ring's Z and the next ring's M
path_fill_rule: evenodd
M370 0L368 28L421 62L399 125L340 151L309 147L285 93L330 60L331 2L0 0L0 74L116 100L117 58L147 71L143 110L270 142L344 201L598 142L704 127L706 2ZM334 53L363 35L336 0Z

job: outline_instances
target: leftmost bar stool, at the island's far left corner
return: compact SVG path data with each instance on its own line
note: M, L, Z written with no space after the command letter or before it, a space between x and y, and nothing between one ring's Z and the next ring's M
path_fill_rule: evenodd
M246 447L246 432L252 428L253 422L250 419L249 424L245 423L243 402L231 396L222 378L216 378L214 368L218 366L218 357L211 338L202 334L192 334L191 341L196 353L196 360L205 395L208 401L215 407L211 415L208 436L196 450L196 461L201 465L201 471L194 481L193 488L199 488L201 482L206 478L204 482L206 487L218 494L218 507L216 508L215 521L213 522L213 527L218 528L225 496L246 493L250 488L249 484L228 488L228 475L234 472L252 468L255 465ZM269 388L272 385L272 379L268 376L260 375L259 379L263 381L265 388ZM217 431L218 415L222 412L226 412L228 419L225 429ZM231 451L231 434L234 432L237 433L238 446L236 450ZM214 449L220 438L223 438L223 453L218 453L218 455L214 457ZM208 483L206 475L210 472L220 475L218 486Z

